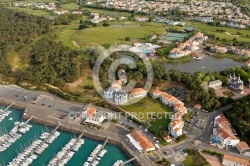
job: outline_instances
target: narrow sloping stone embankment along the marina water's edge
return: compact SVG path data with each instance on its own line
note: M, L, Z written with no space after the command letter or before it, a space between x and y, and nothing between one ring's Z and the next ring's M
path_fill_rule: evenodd
M1 100L0 105L8 106L8 105L11 104L11 102L8 101L8 100L6 100L6 101ZM27 114L26 111L25 111L26 108L27 108L27 104L25 104L25 103L18 103L18 104L14 103L11 107L23 111L23 115L22 115L23 119L27 120L32 116L31 121L33 121L35 123L38 123L38 124L41 124L41 125L44 125L44 126L53 127L53 128L58 125L58 121L56 121L56 119L52 121L52 120L42 119L42 118L38 118L38 117L36 117L34 115ZM83 136L88 137L90 139L98 140L98 141L103 141L104 142L107 139L106 136L103 136L101 134L96 135L96 134L88 132L88 131L83 131L80 128L70 127L70 126L67 126L65 124L61 124L58 129L62 130L62 131L74 133L74 134L81 134L82 132L84 132ZM133 152L130 151L128 149L128 147L126 147L126 145L121 140L117 140L117 139L109 137L107 143L119 147L121 149L121 151L125 155L127 155L128 158L134 158L135 155L133 155ZM142 165L137 159L133 160L133 164L134 165Z

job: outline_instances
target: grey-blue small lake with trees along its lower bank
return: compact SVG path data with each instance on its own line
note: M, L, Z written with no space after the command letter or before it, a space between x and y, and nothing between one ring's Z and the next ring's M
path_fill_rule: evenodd
M166 69L180 70L181 72L194 73L197 71L209 71L220 72L227 68L244 66L244 62L234 61L229 58L215 58L213 56L206 56L203 59L193 59L188 62L180 63L167 63ZM205 68L204 68L205 67Z

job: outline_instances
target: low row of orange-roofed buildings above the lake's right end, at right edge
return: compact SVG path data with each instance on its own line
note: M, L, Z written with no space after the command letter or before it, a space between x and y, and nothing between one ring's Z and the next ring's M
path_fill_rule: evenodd
M235 46L221 47L221 46L211 46L210 51L223 54L226 52L231 52L236 55L250 56L250 50L237 48Z

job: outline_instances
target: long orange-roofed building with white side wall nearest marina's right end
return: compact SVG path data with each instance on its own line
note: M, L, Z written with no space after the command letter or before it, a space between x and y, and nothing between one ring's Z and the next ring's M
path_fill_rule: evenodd
M126 138L139 152L155 150L154 144L140 131L127 134Z

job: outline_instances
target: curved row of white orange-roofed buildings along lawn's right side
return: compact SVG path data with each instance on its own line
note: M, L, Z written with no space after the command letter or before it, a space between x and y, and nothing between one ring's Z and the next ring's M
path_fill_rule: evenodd
M150 92L150 95L153 99L159 98L163 104L173 107L174 114L171 117L171 122L168 126L168 132L174 138L177 138L182 135L182 129L184 127L184 121L182 120L182 116L187 113L187 108L184 106L184 103L179 99L175 98L174 96L166 92L160 91L159 89L152 90Z

